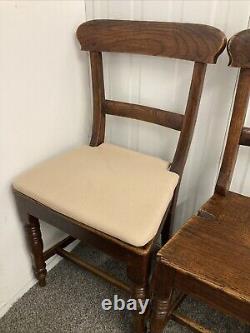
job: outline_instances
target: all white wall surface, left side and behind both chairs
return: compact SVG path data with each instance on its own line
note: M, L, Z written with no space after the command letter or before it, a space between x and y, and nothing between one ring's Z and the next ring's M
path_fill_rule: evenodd
M92 18L212 24L227 36L247 27L249 1L0 1L0 316L33 283L23 228L10 191L21 171L81 142L91 128L87 55L75 38ZM212 193L237 75L226 53L209 66L175 227ZM105 55L107 96L183 112L191 66L143 56ZM112 81L111 81L112 79ZM250 114L248 115L250 125ZM110 119L108 139L172 158L174 131ZM241 149L233 188L249 193L250 153ZM248 174L247 174L248 173ZM248 176L248 179L246 177ZM43 225L45 246L63 234Z

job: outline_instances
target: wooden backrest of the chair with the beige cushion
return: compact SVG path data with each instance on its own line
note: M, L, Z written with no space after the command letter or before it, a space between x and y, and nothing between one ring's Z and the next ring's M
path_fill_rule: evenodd
M105 115L129 117L180 131L171 170L182 174L190 147L206 72L226 46L220 30L202 24L93 20L77 30L82 50L90 51L93 128L90 145L104 141ZM194 62L185 114L105 99L102 52L125 52Z

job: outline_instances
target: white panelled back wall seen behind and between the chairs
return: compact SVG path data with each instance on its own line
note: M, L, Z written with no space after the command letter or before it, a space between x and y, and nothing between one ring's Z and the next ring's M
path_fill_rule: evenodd
M227 37L246 29L249 15L250 1L86 1L87 20L117 18L205 23L223 30ZM192 73L191 63L121 54L106 55L104 60L108 98L183 113ZM191 216L214 189L237 76L237 69L228 68L227 64L228 56L224 51L217 65L208 66L174 229ZM250 112L248 124L249 120ZM112 118L108 139L171 160L177 133L135 120ZM241 149L232 187L248 195L249 161L249 150Z

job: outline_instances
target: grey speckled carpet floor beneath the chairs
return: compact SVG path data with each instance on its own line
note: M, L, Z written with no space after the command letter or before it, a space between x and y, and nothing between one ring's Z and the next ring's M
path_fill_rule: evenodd
M124 267L97 251L78 246L79 255L124 277ZM35 285L0 319L1 333L130 333L131 313L103 311L104 298L125 295L91 273L61 261L48 273L47 286ZM126 299L126 298L125 298ZM220 333L250 333L250 327L186 299L180 311ZM170 321L165 332L186 333L187 328Z

